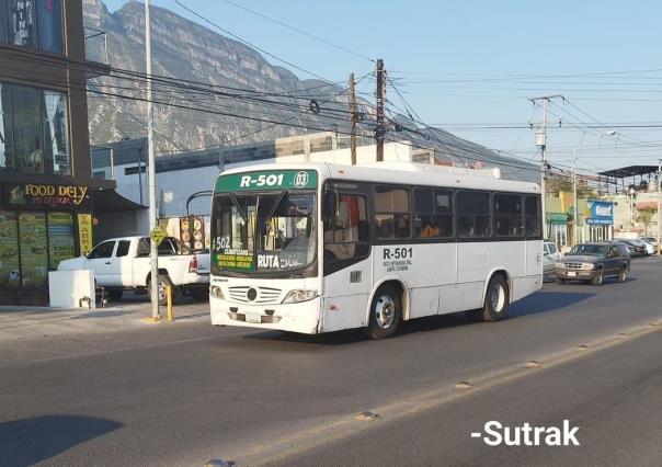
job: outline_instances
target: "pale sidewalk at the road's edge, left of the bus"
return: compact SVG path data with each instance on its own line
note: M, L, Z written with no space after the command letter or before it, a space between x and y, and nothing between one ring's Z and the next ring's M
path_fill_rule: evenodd
M160 307L166 316L166 307ZM209 320L208 303L174 305L175 324ZM169 323L151 323L151 305L145 296L128 295L106 308L89 310L48 307L0 306L0 342L77 333L114 332L139 328L159 328Z

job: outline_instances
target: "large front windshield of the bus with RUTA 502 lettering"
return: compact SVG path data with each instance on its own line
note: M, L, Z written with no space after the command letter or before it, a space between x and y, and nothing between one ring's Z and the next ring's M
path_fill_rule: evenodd
M309 265L316 252L316 195L279 191L214 197L213 266L277 272Z

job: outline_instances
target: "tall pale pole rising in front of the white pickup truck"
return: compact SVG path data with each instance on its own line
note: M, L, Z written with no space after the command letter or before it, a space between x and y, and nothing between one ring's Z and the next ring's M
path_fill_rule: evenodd
M147 150L149 184L149 231L157 226L157 171L155 158L153 107L151 102L151 24L149 0L145 0L145 71L147 73ZM140 168L138 168L138 171ZM151 319L159 320L159 248L150 241L151 262Z

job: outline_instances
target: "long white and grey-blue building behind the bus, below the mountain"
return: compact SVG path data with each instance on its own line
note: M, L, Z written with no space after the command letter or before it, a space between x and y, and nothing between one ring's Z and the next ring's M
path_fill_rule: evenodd
M358 144L357 162L374 161L376 153L374 140L361 138ZM349 164L351 163L349 146L349 138L333 132L321 132L274 141L161 155L156 160L160 223L169 235L191 247L208 247L210 190L222 170L258 163L306 160ZM117 192L122 196L136 205L144 205L147 201L146 153L147 143L144 138L93 147L94 175L114 178L117 181ZM385 144L384 160L425 163L436 161L436 163L453 164L448 160L435 159L431 150L414 149L407 140ZM145 235L148 231L146 209L98 214L95 218L98 225L94 235L98 239Z

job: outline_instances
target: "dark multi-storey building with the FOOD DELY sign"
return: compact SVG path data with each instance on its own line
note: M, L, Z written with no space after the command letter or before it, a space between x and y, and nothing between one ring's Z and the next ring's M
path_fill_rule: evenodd
M92 247L81 0L0 0L0 305L46 305L48 271Z

